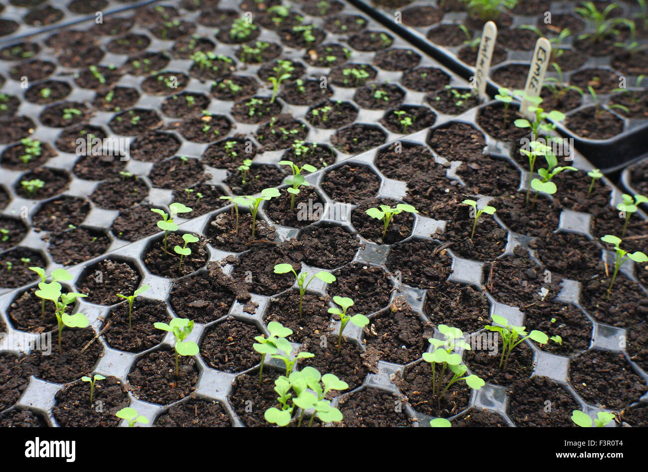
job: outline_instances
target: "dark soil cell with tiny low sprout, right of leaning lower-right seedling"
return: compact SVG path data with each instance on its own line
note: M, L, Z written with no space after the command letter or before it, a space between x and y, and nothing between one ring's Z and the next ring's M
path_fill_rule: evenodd
M573 305L538 301L524 309L528 330L537 329L548 336L561 336L562 344L550 340L542 351L570 356L584 351L592 342L592 322Z

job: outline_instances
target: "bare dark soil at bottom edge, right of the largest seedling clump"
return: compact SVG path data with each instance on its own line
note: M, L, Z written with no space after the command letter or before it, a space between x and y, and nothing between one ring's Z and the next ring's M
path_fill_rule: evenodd
M413 420L408 418L402 408L396 408L399 402L397 394L378 388L366 388L360 392L343 395L338 409L344 419L336 425L365 428L410 426Z

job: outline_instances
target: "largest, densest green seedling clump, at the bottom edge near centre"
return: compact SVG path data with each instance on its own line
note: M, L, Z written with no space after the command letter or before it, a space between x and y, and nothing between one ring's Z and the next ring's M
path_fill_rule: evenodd
M308 426L310 427L317 417L324 423L342 421L342 414L338 408L330 406L330 401L325 399L331 390L346 390L349 384L338 379L336 375L327 373L321 375L316 368L307 366L299 372L292 372L288 377L281 376L275 380L275 392L280 408L268 408L264 418L268 423L286 426L292 420L295 407L301 410L297 427L301 426L304 413L313 410ZM292 394L290 391L292 390ZM292 401L292 405L288 402Z

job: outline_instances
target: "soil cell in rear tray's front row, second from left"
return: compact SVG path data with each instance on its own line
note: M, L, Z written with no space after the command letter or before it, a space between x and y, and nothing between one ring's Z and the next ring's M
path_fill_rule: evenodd
M56 263L64 266L80 264L102 255L110 246L106 231L73 228L51 233L45 237L47 252Z

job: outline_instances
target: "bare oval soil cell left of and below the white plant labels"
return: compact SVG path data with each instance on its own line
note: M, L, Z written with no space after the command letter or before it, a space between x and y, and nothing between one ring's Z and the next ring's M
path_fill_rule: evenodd
M451 123L432 130L427 143L448 161L472 161L481 157L486 139L470 124Z

